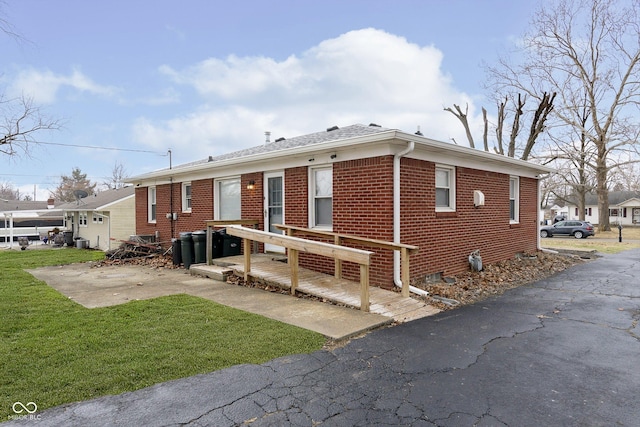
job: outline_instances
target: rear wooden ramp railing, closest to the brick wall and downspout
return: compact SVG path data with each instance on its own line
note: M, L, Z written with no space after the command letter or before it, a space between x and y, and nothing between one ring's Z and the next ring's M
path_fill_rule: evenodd
M293 236L296 232L310 234L318 237L333 238L334 245L342 246L343 243L355 243L378 249L389 249L400 252L400 278L402 280L402 296L409 297L409 257L418 252L417 246L405 245L403 243L387 242L385 240L368 239L365 237L352 236L349 234L333 233L331 231L312 230L309 228L296 227L293 225L274 225L280 230L285 230L288 236ZM335 277L342 278L342 260L336 259Z

